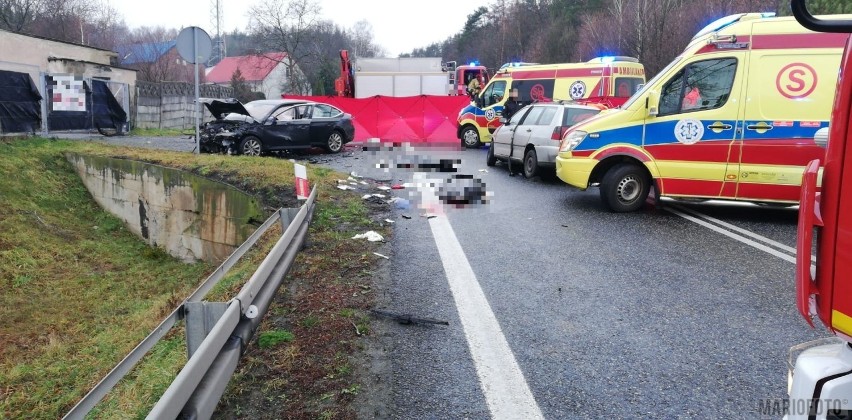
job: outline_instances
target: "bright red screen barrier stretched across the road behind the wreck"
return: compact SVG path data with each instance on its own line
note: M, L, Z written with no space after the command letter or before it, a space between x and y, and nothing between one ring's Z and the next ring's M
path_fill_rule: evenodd
M282 95L334 105L352 114L355 141L378 138L388 142L453 143L459 111L470 103L467 96L420 95L406 97Z

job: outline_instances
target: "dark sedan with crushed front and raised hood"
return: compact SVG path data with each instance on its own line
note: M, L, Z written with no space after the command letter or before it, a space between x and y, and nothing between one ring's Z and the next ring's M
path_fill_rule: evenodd
M352 115L299 99L201 98L216 118L201 126L201 152L249 156L321 147L338 153L355 137Z

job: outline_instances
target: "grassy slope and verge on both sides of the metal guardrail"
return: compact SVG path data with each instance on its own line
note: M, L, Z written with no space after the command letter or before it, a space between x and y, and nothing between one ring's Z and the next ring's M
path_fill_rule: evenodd
M0 417L56 418L118 363L215 268L184 264L148 247L91 199L64 153L123 157L185 169L247 190L270 209L296 206L292 164L44 139L0 141ZM376 229L340 174L310 168L320 186L310 244L264 321L227 412L252 412L243 391L268 392L272 413L349 417L358 390L349 355L368 329L370 246L350 238ZM239 290L277 236L273 229L207 300ZM343 271L343 272L341 272ZM363 332L362 331L362 332ZM260 337L262 349L257 346ZM185 363L182 329L161 341L102 402L99 418L144 417ZM277 381L261 381L258 365ZM281 410L281 411L279 411Z

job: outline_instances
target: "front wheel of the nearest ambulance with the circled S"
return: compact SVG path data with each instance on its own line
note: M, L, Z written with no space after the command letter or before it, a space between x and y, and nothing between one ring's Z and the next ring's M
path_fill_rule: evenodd
M601 200L611 211L625 213L642 207L651 189L651 180L641 167L621 164L607 171L600 189Z

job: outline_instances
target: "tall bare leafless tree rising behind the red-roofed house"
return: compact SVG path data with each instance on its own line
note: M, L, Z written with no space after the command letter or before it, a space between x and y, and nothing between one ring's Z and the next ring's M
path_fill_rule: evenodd
M287 68L289 86L285 93L304 94L310 88L299 65L319 50L317 40L310 35L319 24L320 11L315 0L270 0L249 9L249 26L254 28L252 37L258 53L286 53L280 61Z

